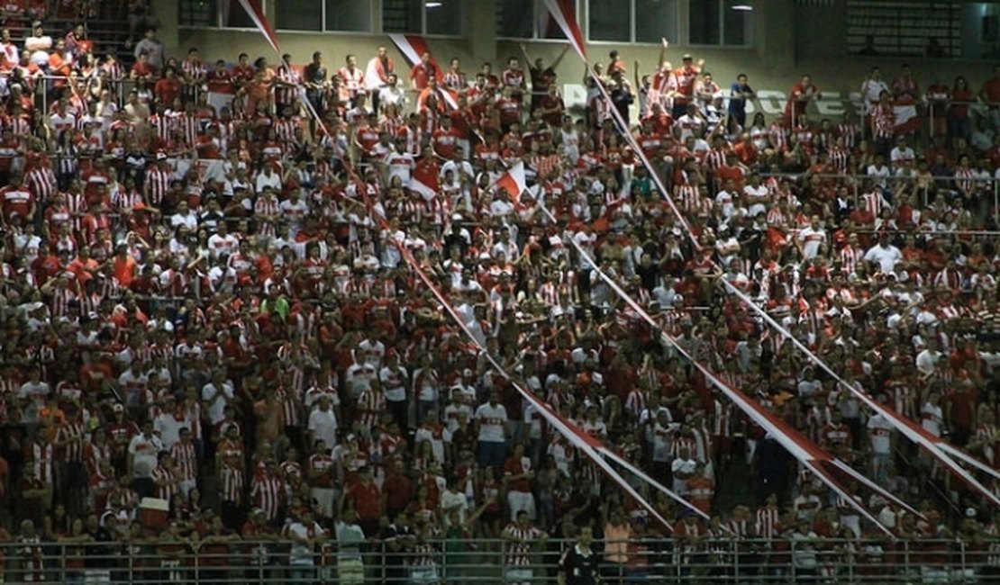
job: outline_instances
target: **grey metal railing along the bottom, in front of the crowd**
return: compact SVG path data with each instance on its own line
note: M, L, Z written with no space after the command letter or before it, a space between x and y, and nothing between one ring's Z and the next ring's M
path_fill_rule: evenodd
M555 583L569 544L534 541L524 555L500 540L409 536L338 550L276 539L9 542L6 583ZM605 543L595 542L597 549ZM1000 541L638 539L602 571L606 583L996 583ZM992 552L991 552L992 551ZM617 561L617 562L612 562Z

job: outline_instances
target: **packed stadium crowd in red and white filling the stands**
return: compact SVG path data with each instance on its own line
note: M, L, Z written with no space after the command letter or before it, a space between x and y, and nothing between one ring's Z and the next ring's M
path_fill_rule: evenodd
M28 577L51 570L53 542L108 577L93 541L175 559L166 574L242 537L290 543L293 578L335 558L356 582L361 551L380 550L387 578L433 583L440 555L475 554L476 535L508 541L520 583L546 538L581 529L605 539L614 575L709 555L827 577L816 551L896 562L888 540L852 549L880 532L661 344L570 239L723 379L919 508L866 499L928 542L928 563L950 554L937 539L1000 536L984 500L719 283L996 466L1000 69L975 94L873 71L862 112L837 120L813 114L805 76L784 116L748 119L745 75L720 89L690 55L673 68L665 42L635 85L612 53L597 65L611 103L588 79L571 112L559 61L523 47L466 74L386 47L206 62L165 54L155 29L126 66L85 37L35 23L0 45L0 537ZM897 135L889 100L904 97L923 124ZM610 108L638 112L686 226ZM517 162L523 193L503 187ZM670 532L623 496L490 368L401 249L518 381L711 520L637 482ZM752 489L720 508L747 473ZM147 497L169 502L165 530L140 520ZM1000 568L990 546L983 571Z

